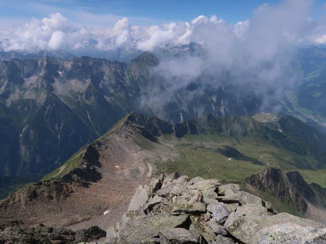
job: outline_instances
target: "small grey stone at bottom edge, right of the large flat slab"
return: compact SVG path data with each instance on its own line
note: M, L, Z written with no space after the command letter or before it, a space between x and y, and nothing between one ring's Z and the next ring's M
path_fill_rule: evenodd
M159 230L161 244L197 244L197 238L183 228L168 228Z

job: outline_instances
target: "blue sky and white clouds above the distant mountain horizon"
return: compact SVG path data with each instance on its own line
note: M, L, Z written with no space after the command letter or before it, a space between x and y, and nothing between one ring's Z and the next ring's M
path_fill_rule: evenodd
M204 44L206 40L196 35L200 28L207 33L228 28L243 39L260 26L257 19L266 27L277 23L292 44L324 44L325 6L321 0L1 0L0 50L153 51L165 45ZM285 29L298 14L304 15L293 29Z

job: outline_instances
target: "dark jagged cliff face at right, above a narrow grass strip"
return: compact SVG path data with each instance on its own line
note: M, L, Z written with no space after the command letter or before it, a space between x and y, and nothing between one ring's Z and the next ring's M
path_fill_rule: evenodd
M317 219L315 216L314 219L324 221L326 211L323 200L325 189L318 185L315 187L316 184L309 185L299 172L284 173L280 169L267 168L250 175L245 181L278 198L282 203L294 207L308 217L312 214L313 206L320 209L323 214Z

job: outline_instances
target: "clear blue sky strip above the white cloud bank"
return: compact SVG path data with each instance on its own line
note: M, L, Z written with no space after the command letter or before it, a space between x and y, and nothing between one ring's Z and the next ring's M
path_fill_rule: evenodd
M229 23L243 21L252 16L253 9L262 4L275 5L280 0L2 0L0 16L8 21L29 21L32 17L44 18L49 14L60 12L73 23L114 23L127 17L131 24L148 25L166 22L191 21L199 15L216 15ZM318 18L325 1L314 1L313 17ZM85 14L106 16L107 18L87 19ZM104 24L104 23L103 23Z

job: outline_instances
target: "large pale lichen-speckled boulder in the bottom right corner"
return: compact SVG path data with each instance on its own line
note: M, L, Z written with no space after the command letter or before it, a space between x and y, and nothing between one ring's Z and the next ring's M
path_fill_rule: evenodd
M322 224L284 212L273 216L242 216L232 212L224 227L245 244L318 243L318 239L326 240L326 229Z

